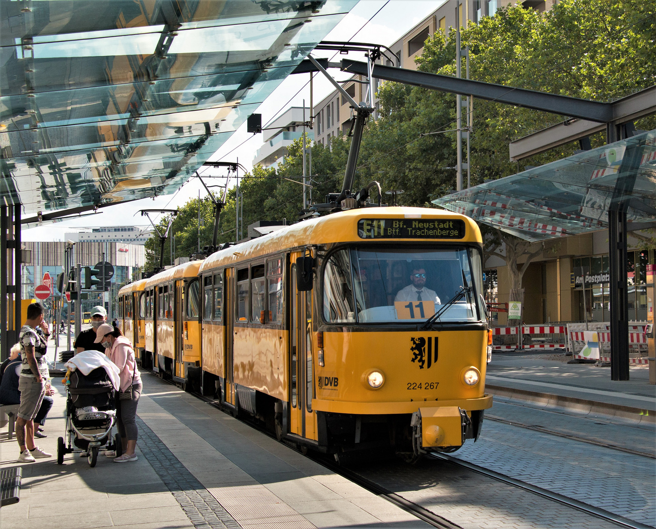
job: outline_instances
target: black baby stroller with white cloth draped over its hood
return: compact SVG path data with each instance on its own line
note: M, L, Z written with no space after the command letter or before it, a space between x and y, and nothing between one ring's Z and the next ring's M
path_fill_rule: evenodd
M81 352L77 356L85 353L91 351ZM64 463L64 454L87 452L89 466L95 467L99 450L115 450L117 456L121 455L121 436L116 433L112 438L116 408L114 386L108 371L100 367L85 375L76 369L69 370L66 376L64 435L67 440L65 442L64 437L57 440L57 463Z

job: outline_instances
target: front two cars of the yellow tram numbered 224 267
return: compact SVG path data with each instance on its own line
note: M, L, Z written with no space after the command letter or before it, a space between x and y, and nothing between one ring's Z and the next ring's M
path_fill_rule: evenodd
M302 447L452 451L492 405L482 292L468 217L352 209L147 280L146 357Z

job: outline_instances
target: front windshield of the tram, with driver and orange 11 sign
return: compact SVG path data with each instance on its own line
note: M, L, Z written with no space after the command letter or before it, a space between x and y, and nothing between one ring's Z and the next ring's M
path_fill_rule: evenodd
M440 322L478 322L485 314L481 284L474 247L340 249L324 269L323 316L331 323L409 323L444 309Z

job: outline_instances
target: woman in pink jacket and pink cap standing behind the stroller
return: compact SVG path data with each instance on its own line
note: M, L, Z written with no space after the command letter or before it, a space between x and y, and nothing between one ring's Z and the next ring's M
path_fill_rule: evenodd
M134 349L130 341L119 329L109 324L102 324L96 330L96 343L102 344L105 354L119 368L121 377L120 392L116 396L116 425L121 436L123 455L115 457L113 452L106 452L108 457L115 457L116 463L136 461L136 406L139 403L142 383L139 370L134 360Z

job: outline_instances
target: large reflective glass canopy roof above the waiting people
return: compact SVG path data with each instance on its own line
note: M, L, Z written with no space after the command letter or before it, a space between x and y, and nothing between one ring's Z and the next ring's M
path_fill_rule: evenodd
M174 192L358 0L0 0L0 200Z

